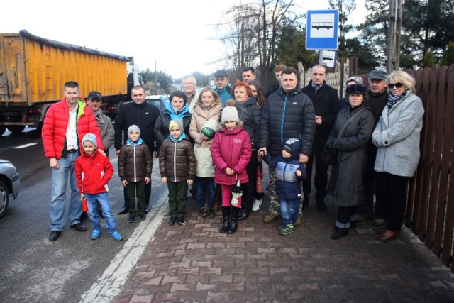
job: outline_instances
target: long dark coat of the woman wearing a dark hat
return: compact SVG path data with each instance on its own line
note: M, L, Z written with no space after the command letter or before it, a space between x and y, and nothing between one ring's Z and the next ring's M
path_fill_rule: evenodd
M353 119L341 131L348 119ZM342 109L334 123L326 148L338 150L338 160L331 170L328 194L333 196L335 206L355 206L364 202L363 174L367 160L367 141L374 129L374 116L364 105L350 110Z

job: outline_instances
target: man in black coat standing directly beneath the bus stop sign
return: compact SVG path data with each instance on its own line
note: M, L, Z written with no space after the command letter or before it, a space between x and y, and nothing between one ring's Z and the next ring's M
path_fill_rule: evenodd
M312 153L306 166L307 180L303 182L304 201L303 207L309 205L309 194L311 193L312 165L315 158L315 178L314 185L316 189L315 199L317 209L326 211L324 199L326 197L326 186L328 185L328 165L319 157L323 148L325 148L334 121L338 111L341 110L339 103L338 91L326 84L326 68L323 65L312 67L311 81L301 92L308 95L314 104L316 131Z

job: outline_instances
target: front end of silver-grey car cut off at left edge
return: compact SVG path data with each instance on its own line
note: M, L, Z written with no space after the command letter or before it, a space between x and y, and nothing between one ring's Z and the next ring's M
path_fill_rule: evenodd
M9 197L16 199L21 181L13 163L0 159L0 219L6 214Z

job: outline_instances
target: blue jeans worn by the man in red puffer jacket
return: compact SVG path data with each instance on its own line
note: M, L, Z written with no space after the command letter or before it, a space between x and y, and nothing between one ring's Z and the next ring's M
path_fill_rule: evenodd
M68 153L66 158L58 160L59 170L52 169L52 196L50 198L50 229L52 231L62 231L65 224L65 204L66 204L66 185L68 176L70 177L71 198L68 207L68 221L70 225L80 223L82 214L82 202L80 201L79 189L77 188L76 175L74 173L74 163L78 153Z

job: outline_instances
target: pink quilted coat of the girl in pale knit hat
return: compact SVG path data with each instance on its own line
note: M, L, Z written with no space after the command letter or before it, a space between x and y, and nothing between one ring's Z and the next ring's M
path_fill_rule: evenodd
M228 131L226 126L222 126L211 145L211 157L216 167L214 182L224 185L236 183L236 175L226 174L227 167L236 172L241 183L248 182L246 165L248 165L251 153L250 138L243 126L239 126L233 131Z

